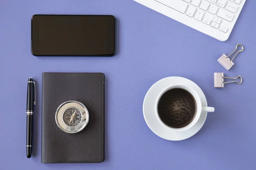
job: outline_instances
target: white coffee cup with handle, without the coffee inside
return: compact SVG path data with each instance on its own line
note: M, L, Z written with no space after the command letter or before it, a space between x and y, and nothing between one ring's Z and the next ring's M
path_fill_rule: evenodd
M163 123L161 121L161 119L160 119L160 117L158 115L158 111L157 111L158 102L159 102L161 96L163 96L163 94L166 91L169 91L169 90L174 89L174 88L181 88L181 89L184 89L184 90L188 91L190 94L192 94L192 96L194 97L195 102L196 102L196 113L195 113L194 119L192 120L192 122L189 123L189 125L187 125L185 127L181 127L181 128L173 128L173 127L167 126L165 123ZM188 130L191 127L193 127L198 122L198 119L200 118L202 112L214 112L214 110L215 110L212 107L202 107L202 102L201 102L201 99L200 99L198 93L193 88L191 88L191 87L189 87L187 85L171 85L171 86L163 89L163 91L161 91L161 93L157 96L157 100L155 102L154 108L155 108L155 113L156 113L158 121L164 127L168 128L169 130L176 131L176 132L185 131L185 130Z

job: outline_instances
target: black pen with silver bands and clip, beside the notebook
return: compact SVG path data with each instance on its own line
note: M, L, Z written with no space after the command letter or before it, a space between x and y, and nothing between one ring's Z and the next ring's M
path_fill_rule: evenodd
M35 105L35 82L32 78L29 78L28 92L27 92L27 136L26 136L26 151L27 157L30 158L32 154L32 125L33 125L33 113Z

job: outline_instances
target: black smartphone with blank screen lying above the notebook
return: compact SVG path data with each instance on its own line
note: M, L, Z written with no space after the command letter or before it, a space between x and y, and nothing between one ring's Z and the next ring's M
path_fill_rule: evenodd
M113 56L116 20L112 15L33 15L35 56Z

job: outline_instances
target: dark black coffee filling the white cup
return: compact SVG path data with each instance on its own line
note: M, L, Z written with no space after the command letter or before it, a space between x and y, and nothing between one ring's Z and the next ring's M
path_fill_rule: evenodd
M192 94L182 88L166 91L157 106L160 119L173 128L189 125L195 117L196 102Z

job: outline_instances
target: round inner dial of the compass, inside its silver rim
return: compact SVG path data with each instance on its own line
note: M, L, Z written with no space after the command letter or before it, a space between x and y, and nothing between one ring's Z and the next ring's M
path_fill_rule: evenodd
M78 108L74 107L67 108L63 112L62 120L67 126L77 126L81 123L82 120L81 111L79 111Z

